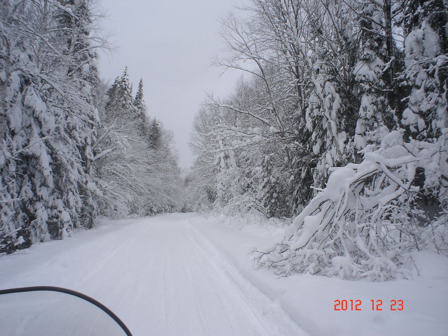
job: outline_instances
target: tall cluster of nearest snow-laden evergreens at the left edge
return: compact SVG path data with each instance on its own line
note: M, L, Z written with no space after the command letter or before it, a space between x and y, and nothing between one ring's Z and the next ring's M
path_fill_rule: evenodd
M89 6L0 4L0 253L63 238L95 215L90 87L98 39Z

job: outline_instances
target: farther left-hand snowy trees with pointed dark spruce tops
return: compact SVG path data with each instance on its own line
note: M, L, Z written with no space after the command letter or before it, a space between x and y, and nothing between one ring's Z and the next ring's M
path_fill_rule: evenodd
M95 156L103 215L151 215L177 209L179 169L172 137L157 119L146 116L143 81L132 97L127 69L115 79L100 109Z

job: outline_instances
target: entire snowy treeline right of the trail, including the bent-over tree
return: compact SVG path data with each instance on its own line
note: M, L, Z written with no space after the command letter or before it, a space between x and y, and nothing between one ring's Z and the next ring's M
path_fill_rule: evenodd
M230 14L215 63L248 75L195 118L185 208L305 209L258 258L279 274L384 280L406 277L404 251L448 253L447 22L440 0L252 0Z

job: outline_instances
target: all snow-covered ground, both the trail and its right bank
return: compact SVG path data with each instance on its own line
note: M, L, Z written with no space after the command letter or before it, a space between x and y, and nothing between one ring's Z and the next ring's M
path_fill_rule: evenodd
M283 231L255 218L196 214L102 220L0 258L0 289L80 291L108 306L134 336L448 333L448 258L416 253L419 278L383 283L254 271L250 252L271 246ZM11 306L4 297L0 310ZM362 300L362 311L334 310L334 300L350 299ZM383 300L382 311L372 311L372 299ZM403 300L404 310L391 311L391 300ZM13 330L6 335L20 334Z

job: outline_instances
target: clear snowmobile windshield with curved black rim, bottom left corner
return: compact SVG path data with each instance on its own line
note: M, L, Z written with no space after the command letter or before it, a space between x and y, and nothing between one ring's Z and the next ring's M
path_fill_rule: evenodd
M120 301L111 298L108 303ZM52 286L0 290L0 326L5 336L132 336L102 303Z

